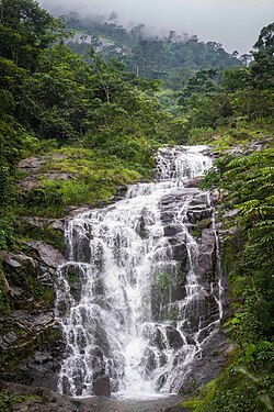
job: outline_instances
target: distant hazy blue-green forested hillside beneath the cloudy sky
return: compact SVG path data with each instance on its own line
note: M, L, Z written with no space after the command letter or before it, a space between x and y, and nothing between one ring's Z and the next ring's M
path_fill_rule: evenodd
M173 90L180 89L198 69L242 66L250 58L249 55L240 57L237 51L229 55L220 43L204 43L195 35L170 31L167 36L158 36L141 23L127 30L118 24L115 12L106 21L69 13L66 24L76 33L68 41L69 47L87 59L92 46L107 60L116 58L126 70L161 80Z

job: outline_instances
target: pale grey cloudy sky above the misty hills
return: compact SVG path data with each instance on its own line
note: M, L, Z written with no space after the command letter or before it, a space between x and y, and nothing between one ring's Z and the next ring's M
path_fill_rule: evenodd
M274 0L41 0L81 14L105 14L113 10L119 22L145 23L157 31L196 34L202 41L222 43L228 52L248 53L260 30L274 21ZM61 12L61 10L59 10Z

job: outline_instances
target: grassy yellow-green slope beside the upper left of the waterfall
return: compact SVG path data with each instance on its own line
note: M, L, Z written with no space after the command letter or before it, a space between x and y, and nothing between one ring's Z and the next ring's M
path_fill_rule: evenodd
M142 165L134 167L96 151L76 147L55 151L38 170L39 185L23 194L23 213L62 216L70 205L95 207L107 202L117 187L136 183L149 172L149 168L142 170Z

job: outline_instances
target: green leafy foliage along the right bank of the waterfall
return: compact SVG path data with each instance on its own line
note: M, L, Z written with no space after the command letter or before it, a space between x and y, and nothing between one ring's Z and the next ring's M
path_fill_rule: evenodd
M273 159L272 147L228 155L204 180L221 190L222 207L239 210L239 238L228 237L222 250L235 300L225 327L239 354L212 400L202 397L194 411L273 410Z

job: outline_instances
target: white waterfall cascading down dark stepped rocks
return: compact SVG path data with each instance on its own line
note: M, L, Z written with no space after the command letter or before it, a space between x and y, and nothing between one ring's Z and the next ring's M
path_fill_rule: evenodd
M212 224L209 197L194 185L212 166L205 149L160 149L157 182L133 186L116 204L68 222L68 263L57 281L67 343L61 392L90 396L102 376L124 396L175 392L218 330L216 247L203 250L191 234L197 216Z

